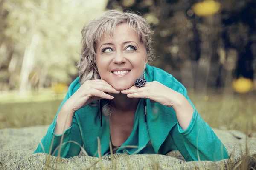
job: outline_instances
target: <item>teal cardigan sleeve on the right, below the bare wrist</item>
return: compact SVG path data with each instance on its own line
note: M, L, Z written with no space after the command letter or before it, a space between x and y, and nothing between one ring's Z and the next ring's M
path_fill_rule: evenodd
M215 135L212 128L201 118L187 96L186 88L183 85L181 87L183 95L194 108L194 113L186 130L183 130L177 123L170 131L177 149L186 161L219 161L228 159L227 149Z

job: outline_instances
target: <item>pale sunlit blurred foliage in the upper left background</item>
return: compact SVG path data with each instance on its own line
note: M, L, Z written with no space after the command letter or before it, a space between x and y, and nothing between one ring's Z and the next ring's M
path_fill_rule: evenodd
M4 0L0 5L0 72L1 77L3 71L10 75L3 82L9 83L12 75L20 76L26 52L32 55L29 72L43 81L71 82L77 74L81 29L103 11L104 3L96 6L97 2ZM10 71L15 55L15 70ZM19 84L19 79L13 84Z

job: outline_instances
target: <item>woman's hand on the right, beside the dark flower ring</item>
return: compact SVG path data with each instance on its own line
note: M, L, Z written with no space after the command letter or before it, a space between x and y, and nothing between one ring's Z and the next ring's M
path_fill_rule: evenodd
M121 91L122 94L127 94L129 98L146 98L151 102L158 102L168 107L180 105L184 96L177 91L174 91L160 82L147 82L144 87L137 88L135 85L127 90Z

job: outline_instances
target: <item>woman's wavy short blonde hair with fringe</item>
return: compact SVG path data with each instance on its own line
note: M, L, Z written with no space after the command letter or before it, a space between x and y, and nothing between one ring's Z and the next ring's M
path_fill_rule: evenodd
M104 33L113 36L116 26L128 23L140 36L140 41L145 44L148 62L154 60L152 52L153 31L145 18L135 14L133 11L120 12L109 10L101 17L91 21L82 29L81 58L78 62L79 81L82 85L87 80L100 79L96 67L96 44L102 39ZM112 112L109 102L105 102L102 112L107 116Z

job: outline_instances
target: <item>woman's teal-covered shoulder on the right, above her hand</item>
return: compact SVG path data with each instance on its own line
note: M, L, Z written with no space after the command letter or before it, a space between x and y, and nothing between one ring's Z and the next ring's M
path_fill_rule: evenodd
M181 94L186 94L186 88L172 74L147 64L145 74L149 82L157 81Z

